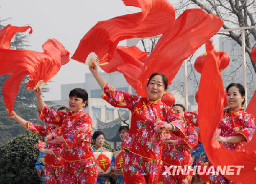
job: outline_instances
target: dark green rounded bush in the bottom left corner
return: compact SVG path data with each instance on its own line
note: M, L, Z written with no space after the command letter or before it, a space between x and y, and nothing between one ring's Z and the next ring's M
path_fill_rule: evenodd
M42 137L35 133L24 133L0 147L1 183L40 183L34 168L39 154L34 145L39 139Z

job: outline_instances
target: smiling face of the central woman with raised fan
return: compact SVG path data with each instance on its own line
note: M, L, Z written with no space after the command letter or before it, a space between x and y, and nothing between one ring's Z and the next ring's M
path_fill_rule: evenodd
M155 75L146 87L147 97L152 100L158 100L163 97L167 89L164 89L163 78Z

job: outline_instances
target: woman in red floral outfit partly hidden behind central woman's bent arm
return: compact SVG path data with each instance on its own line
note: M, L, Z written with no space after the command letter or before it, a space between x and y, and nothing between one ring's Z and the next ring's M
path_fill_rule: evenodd
M163 137L165 143L162 150L163 167L162 172L165 173L165 167L171 167L169 172L163 175L163 183L182 183L189 184L192 179L193 171L187 171L188 167L192 169L193 159L190 150L198 143L198 135L193 126L190 126L193 118L184 118L184 106L180 104L173 105L173 109L186 124L186 132L168 132ZM184 172L184 173L183 173Z

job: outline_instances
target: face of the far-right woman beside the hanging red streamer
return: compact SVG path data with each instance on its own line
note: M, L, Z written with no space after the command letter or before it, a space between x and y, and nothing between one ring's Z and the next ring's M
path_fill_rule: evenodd
M236 110L242 107L242 102L244 101L244 96L239 92L239 88L232 86L227 91L227 104L231 110Z

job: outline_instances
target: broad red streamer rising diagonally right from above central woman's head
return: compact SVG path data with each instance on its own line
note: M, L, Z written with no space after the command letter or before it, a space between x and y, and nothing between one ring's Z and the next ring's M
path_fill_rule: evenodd
M223 21L201 9L188 9L175 21L172 30L164 33L156 44L137 84L137 93L146 96L145 86L151 74L160 72L169 81L178 73L183 61L215 35Z

